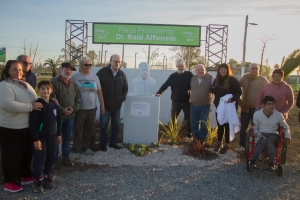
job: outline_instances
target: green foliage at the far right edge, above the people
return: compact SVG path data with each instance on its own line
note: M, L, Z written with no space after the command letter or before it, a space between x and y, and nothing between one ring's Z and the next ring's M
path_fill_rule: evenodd
M294 50L283 62L282 70L284 78L288 77L298 66L300 66L300 49Z

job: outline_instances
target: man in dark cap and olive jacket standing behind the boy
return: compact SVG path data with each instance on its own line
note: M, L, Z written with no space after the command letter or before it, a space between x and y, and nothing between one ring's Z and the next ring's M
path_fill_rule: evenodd
M53 93L51 97L57 99L59 103L59 109L61 112L61 126L62 126L62 158L63 164L66 166L73 166L71 162L70 154L70 137L72 134L72 128L74 124L75 113L80 109L81 96L77 84L70 78L76 71L76 68L72 66L70 62L64 62L61 64L61 72L57 77L52 78L51 83L53 85ZM59 146L56 148L56 159L58 158ZM56 161L55 168L60 168L58 161Z

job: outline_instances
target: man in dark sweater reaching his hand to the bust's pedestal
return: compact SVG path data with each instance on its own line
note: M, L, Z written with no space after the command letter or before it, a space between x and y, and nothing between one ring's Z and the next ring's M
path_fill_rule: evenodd
M189 103L189 90L190 82L193 77L193 73L190 71L185 71L185 62L183 60L178 60L176 62L177 72L171 74L167 81L160 87L156 96L161 96L161 94L170 86L171 87L171 118L174 119L178 117L181 110L184 112L184 120L186 122L186 129L188 131L188 137L191 137L191 127L190 127L190 103Z

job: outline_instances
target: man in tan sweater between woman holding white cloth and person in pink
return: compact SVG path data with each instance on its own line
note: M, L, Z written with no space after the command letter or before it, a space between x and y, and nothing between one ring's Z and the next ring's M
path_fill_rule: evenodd
M252 63L250 71L243 75L240 84L243 90L241 105L241 130L240 147L236 151L242 151L246 146L246 131L250 120L253 122L253 114L256 108L256 101L263 86L268 83L264 76L259 75L259 65Z

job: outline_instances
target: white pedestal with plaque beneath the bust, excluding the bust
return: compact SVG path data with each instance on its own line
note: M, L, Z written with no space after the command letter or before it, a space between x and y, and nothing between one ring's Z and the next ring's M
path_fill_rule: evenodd
M123 143L157 143L159 112L159 97L128 94L124 109Z

